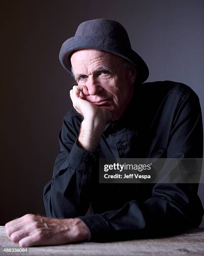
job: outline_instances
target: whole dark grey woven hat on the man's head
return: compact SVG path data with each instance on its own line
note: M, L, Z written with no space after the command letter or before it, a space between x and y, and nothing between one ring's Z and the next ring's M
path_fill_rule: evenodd
M82 22L74 35L61 46L59 60L71 73L70 54L79 49L108 51L133 63L137 69L135 83L141 84L149 76L145 61L131 48L125 28L115 20L95 19Z

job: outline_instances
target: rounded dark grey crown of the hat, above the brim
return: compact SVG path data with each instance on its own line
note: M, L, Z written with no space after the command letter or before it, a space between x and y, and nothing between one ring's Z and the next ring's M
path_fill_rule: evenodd
M94 19L84 21L79 24L75 36L109 37L131 49L127 31L115 20Z

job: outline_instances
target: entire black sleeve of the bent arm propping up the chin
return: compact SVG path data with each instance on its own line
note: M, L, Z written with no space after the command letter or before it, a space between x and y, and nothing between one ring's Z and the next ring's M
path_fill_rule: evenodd
M91 153L77 146L80 121L77 115L63 120L53 177L43 191L48 217L74 218L89 208L89 183L99 150Z

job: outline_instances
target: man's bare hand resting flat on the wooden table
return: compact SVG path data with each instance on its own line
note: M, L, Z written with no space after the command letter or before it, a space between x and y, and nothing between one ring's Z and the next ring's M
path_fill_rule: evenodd
M5 224L6 234L21 247L59 245L89 238L90 232L80 219L46 218L26 214Z

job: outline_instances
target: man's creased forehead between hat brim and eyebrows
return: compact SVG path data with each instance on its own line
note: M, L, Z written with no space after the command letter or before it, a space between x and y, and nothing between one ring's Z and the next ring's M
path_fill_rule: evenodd
M120 59L119 56L107 51L100 51L96 49L80 49L74 51L71 54L71 65L92 66L102 63L115 65L117 64L118 59Z

